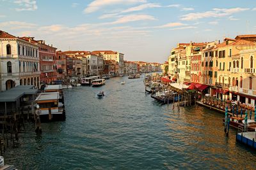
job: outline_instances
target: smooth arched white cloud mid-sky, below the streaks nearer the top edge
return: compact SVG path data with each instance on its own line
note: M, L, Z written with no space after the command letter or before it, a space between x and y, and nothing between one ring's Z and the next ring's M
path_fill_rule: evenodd
M116 21L111 22L111 24L124 24L127 22L134 22L138 20L156 20L156 18L154 18L151 15L127 15L127 16L118 18Z

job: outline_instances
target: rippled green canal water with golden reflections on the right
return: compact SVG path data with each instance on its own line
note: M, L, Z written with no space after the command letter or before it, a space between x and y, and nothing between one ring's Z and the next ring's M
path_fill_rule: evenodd
M125 81L125 85L120 85ZM104 90L106 97L97 98ZM26 124L19 146L4 153L19 169L255 169L256 152L225 137L223 115L200 106L162 105L143 78L64 90L67 120Z

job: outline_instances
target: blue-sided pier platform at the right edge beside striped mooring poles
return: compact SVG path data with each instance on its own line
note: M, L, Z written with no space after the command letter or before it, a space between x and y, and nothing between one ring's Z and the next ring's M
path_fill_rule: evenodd
M253 149L256 149L255 135L256 135L256 132L238 133L236 135L236 140L245 144L246 146L250 146Z

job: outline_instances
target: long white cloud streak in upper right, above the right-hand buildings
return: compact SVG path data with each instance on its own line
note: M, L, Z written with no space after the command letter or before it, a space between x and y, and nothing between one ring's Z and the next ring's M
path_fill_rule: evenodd
M180 20L198 20L201 18L210 18L210 17L225 17L228 15L232 15L232 13L238 13L241 11L250 10L249 8L214 8L212 11L205 11L202 13L188 13L186 15L182 15Z

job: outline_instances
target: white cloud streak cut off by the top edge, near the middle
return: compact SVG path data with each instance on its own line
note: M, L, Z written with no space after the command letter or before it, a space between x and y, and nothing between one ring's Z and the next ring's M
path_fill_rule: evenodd
M146 3L146 0L95 0L84 9L84 13L93 13L104 8L104 6L110 6L115 4L135 4Z

